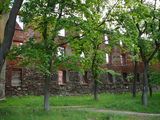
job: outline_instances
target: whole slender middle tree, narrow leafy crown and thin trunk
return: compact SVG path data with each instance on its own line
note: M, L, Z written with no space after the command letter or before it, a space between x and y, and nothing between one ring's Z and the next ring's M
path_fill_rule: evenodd
M106 62L105 55L107 52L109 53L110 48L109 46L108 48L105 48L104 36L108 33L108 28L105 27L105 22L108 20L108 16L117 5L117 2L113 5L106 4L106 1L103 0L97 0L94 2L87 1L86 3L90 5L88 10L91 11L91 13L84 13L86 22L82 26L82 33L84 35L82 36L83 42L75 41L75 44L78 44L79 46L77 48L78 50L75 49L75 51L78 51L79 54L84 54L83 59L86 61L84 64L87 64L87 69L90 69L92 74L94 100L97 100L98 84L101 83L99 79L100 75L104 72L110 72L103 68L103 65ZM107 11L104 13L105 10Z

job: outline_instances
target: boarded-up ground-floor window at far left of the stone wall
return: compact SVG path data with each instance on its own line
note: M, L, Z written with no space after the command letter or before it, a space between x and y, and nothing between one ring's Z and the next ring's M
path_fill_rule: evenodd
M21 81L22 81L22 70L13 70L11 85L12 86L21 86Z

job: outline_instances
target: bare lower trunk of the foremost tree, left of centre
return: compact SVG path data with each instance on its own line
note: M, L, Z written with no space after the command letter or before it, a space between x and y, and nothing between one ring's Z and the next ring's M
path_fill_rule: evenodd
M50 77L46 77L46 79L44 80L44 110L45 111L49 111L49 81L50 81Z

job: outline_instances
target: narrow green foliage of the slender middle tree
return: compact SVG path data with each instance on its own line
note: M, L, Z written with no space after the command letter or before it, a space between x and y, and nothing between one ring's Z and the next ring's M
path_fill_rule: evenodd
M105 49L101 48L104 44L104 24L101 24L104 1L89 2L89 11L84 13L86 21L82 24L81 41L71 44L75 54L84 53L83 65L85 69L90 69L93 80L99 81L100 74L103 73L102 65L105 64ZM93 5L94 4L94 5ZM87 5L87 4L86 4ZM99 9L99 10L97 10ZM101 10L100 10L101 9ZM101 25L100 25L101 24ZM86 62L86 63L85 63Z

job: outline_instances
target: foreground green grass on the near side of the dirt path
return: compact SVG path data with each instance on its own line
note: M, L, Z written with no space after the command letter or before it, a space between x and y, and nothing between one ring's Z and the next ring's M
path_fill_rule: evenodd
M51 109L44 112L40 108L0 108L0 120L160 120L158 117L138 117L73 111L71 109Z

